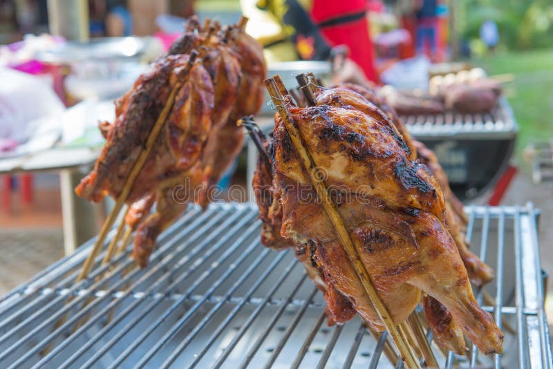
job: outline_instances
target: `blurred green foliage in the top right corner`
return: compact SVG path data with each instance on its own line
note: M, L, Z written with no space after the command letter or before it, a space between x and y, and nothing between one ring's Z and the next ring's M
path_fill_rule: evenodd
M500 46L514 50L553 46L552 0L458 1L458 30L467 41L480 39L480 26L495 21Z

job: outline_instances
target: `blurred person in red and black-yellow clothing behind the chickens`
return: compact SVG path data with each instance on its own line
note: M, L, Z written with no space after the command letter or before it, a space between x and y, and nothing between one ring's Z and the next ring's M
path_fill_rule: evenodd
M366 1L241 0L268 61L327 60L339 82L377 81Z

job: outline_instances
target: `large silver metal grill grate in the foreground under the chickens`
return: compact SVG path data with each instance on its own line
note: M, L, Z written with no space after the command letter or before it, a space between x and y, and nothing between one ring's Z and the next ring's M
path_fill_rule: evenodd
M531 205L467 210L467 236L497 274L485 287L495 305L485 309L516 334L505 334L502 357L435 348L440 365L550 368L537 212ZM359 319L326 326L321 293L292 252L261 246L256 214L253 205L191 207L162 235L149 268L125 273L132 265L125 254L74 285L91 243L84 245L0 301L0 366L391 367L382 354L386 334L375 341ZM68 296L75 298L66 304ZM53 330L66 312L70 318ZM73 331L83 316L88 321Z

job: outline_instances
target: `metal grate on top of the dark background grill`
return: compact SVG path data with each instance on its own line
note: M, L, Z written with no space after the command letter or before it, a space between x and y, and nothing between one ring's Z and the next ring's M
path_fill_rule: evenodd
M500 97L498 106L489 113L461 114L446 111L429 115L402 115L409 132L416 138L420 136L467 135L485 133L495 136L513 135L518 128L512 109L505 97Z

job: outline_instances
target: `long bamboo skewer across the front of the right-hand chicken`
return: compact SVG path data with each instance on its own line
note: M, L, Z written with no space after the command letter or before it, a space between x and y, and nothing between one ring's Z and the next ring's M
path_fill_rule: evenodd
M375 285L373 284L373 281L371 279L371 276L368 274L363 262L359 258L357 250L353 245L353 240L351 239L346 226L342 222L341 217L339 216L338 211L334 205L334 202L332 202L332 199L328 194L323 176L321 176L321 173L319 173L316 167L316 163L313 161L310 152L304 146L301 133L292 121L292 117L290 117L288 109L282 104L282 100L285 98L285 96L281 95L281 93L279 92L279 85L281 89L284 88L280 77L277 76L270 79L265 79L265 84L275 106L277 106L277 111L279 111L282 117L286 131L288 131L288 135L290 135L290 140L292 140L292 144L294 144L294 147L299 153L299 159L301 160L303 167L305 167L306 171L308 172L312 185L317 190L317 194L321 199L326 214L328 215L328 218L330 218L332 225L335 227L335 230L341 240L341 245L344 247L344 251L348 256L350 263L353 265L355 272L357 272L357 275L359 276L364 289L371 299L371 302L373 303L373 306L377 311L379 318L386 326L386 329L388 330L395 345L397 346L397 350L399 350L402 359L404 359L406 363L406 366L408 368L420 368L415 354L407 343L404 332L397 328L397 326L393 322L390 313L388 312L388 309L386 308L386 305L384 305L384 303L380 299Z

